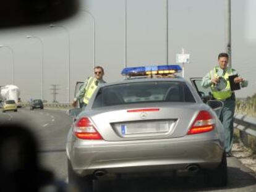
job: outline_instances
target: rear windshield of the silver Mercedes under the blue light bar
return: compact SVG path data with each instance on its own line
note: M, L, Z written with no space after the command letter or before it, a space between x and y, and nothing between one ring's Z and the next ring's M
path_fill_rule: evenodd
M100 88L93 108L145 102L195 102L195 99L182 82L125 83Z

